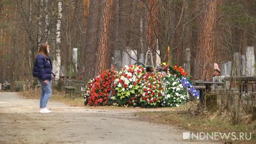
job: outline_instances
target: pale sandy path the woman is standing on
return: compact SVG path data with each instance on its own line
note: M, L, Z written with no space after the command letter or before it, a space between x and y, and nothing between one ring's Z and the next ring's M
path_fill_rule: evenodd
M138 120L140 110L86 109L49 102L52 113L39 113L38 100L0 93L0 143L217 143L182 140L170 125Z

